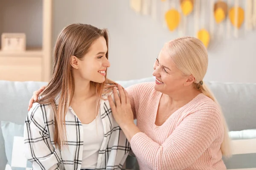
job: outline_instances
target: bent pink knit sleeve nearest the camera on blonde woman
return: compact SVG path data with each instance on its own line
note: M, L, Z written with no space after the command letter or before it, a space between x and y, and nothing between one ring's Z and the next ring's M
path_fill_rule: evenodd
M181 170L196 161L221 133L218 109L206 105L187 115L162 144L140 132L131 139L131 149L151 169Z

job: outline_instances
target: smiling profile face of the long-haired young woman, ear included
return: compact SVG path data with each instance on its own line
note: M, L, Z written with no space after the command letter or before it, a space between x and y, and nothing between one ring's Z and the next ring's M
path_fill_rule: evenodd
M72 63L76 63L76 71L81 79L102 83L105 81L107 68L110 63L106 57L108 51L107 43L104 37L99 37L89 48L87 54L78 59L72 57ZM75 76L77 77L77 76Z

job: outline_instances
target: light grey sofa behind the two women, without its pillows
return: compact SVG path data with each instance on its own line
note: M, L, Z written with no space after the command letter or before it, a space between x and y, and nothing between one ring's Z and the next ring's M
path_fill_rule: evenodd
M154 77L116 81L124 87L154 81ZM23 124L33 91L47 82L0 81L0 121ZM218 99L231 130L256 129L256 84L207 82ZM5 147L0 130L0 170L6 165Z

